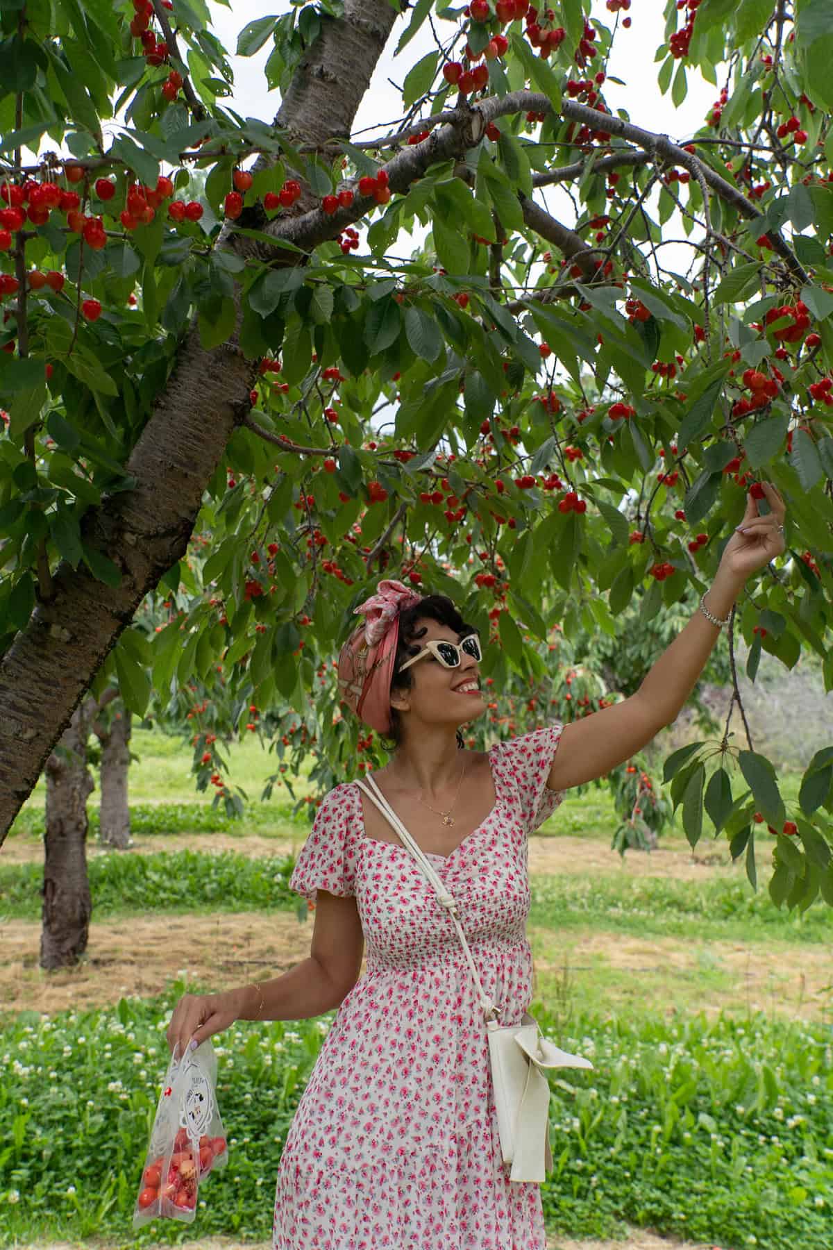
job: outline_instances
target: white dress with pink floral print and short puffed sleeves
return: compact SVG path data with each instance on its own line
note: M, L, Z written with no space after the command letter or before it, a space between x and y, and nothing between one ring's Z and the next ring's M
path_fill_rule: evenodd
M506 1025L532 998L527 835L564 798L546 784L561 730L493 745L492 811L430 855ZM451 916L400 841L366 836L355 782L326 795L290 886L356 896L366 971L287 1134L275 1250L543 1250L540 1186L508 1180L501 1159L486 1025Z

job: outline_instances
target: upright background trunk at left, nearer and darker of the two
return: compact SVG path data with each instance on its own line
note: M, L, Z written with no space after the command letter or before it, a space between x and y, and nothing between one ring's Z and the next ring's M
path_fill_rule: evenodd
M40 966L70 968L86 950L92 900L86 874L86 801L94 789L86 740L95 700L76 708L46 761L46 838Z

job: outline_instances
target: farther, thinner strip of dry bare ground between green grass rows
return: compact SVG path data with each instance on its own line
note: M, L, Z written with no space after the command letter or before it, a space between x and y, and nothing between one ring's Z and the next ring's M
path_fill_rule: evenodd
M146 835L134 839L131 855L149 855L154 851L194 850L216 854L217 851L236 851L239 855L288 855L297 854L303 845L305 834L296 838L270 838L262 834L165 834ZM96 842L87 845L87 858L117 854ZM761 848L761 862L766 862L769 849ZM2 864L41 864L44 845L39 838L7 838L0 848ZM559 874L589 875L596 872L613 874L623 878L672 878L677 881L708 881L714 878L736 878L743 874L739 865L732 865L724 842L703 848L692 855L689 848L679 839L666 840L656 851L628 851L621 859L612 851L609 844L601 838L576 838L564 834L559 836L533 836L530 840L530 872L548 876Z

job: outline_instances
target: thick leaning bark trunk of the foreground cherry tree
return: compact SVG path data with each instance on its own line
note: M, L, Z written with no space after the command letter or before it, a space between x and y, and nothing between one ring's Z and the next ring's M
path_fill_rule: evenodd
M350 135L397 16L388 0L347 0L343 18L323 20L276 124L316 144ZM332 234L323 216L315 220L322 239ZM264 229L291 238L298 225L288 219ZM307 232L315 245L315 231ZM252 244L234 228L222 245L286 264L285 249ZM237 331L205 351L192 325L125 466L134 490L105 498L82 521L84 541L115 561L121 584L114 589L61 561L54 598L35 608L0 659L0 845L107 652L147 591L185 555L205 486L249 411L256 370Z

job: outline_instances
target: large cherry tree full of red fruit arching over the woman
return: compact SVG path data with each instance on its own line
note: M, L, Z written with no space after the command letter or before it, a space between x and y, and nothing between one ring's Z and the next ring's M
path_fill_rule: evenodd
M623 0L420 2L397 48L428 18L435 48L402 118L356 141L398 21L381 0L245 29L239 50L274 44L274 125L224 105L200 0L59 9L1 10L1 829L114 669L136 714L149 668L167 691L217 662L250 706L301 714L385 570L452 594L500 641L501 686L536 670L525 634L613 635L634 595L648 620L706 589L763 475L789 556L741 596L729 648L737 629L754 676L762 649L792 668L809 646L833 685L826 0L671 0L663 89L724 80L683 144L606 104ZM131 621L160 584L189 606L151 638ZM357 736L310 735L336 764ZM806 906L833 899L832 761L792 820L748 734L666 780L693 842L703 809L737 854L766 821L771 892Z

